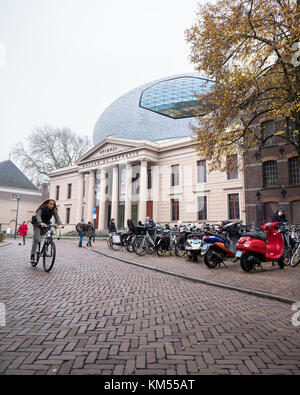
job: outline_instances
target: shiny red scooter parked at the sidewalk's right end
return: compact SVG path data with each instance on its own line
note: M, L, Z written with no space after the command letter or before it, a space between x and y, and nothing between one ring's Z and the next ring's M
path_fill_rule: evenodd
M235 256L240 258L245 272L250 272L255 265L262 267L262 262L277 262L280 269L284 268L284 242L276 229L278 225L278 222L268 222L260 227L266 234L248 232L238 240Z

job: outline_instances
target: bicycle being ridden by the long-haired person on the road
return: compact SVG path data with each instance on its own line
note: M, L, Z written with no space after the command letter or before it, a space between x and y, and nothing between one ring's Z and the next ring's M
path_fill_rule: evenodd
M41 242L38 243L37 250L34 254L31 265L36 267L39 263L40 257L43 257L43 267L45 272L50 272L53 268L55 258L56 258L56 246L53 240L53 235L55 234L56 226L49 225L43 228L43 234L46 234L43 247L41 249Z

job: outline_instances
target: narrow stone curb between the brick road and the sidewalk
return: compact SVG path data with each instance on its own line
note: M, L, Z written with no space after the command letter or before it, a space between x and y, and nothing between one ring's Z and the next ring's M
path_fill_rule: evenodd
M245 294L252 295L252 296L257 296L257 297L264 298L264 299L275 300L277 302L286 303L286 304L294 304L294 303L298 302L297 300L294 300L294 299L285 298L285 297L282 297L282 296L279 296L279 295L275 295L275 294L271 294L271 293L267 293L267 292L257 291L257 290L253 290L253 289L249 289L249 288L240 288L240 287L237 287L237 286L234 286L234 285L227 285L227 284L223 284L223 283L216 283L214 281L208 281L208 280L204 280L204 279L201 279L201 278L189 277L189 276L186 276L184 274L179 274L179 273L175 273L175 272L172 272L172 271L169 271L169 270L159 269L159 268L148 266L148 265L143 265L141 263L134 262L134 261L129 261L129 260L124 259L124 258L114 257L112 255L109 255L109 254L106 254L104 252L100 252L100 251L94 250L94 249L91 249L91 251L96 252L96 253L98 253L100 255L103 255L103 256L105 256L107 258L116 259L117 261L122 261L122 262L125 262L125 263L129 263L131 265L136 265L136 266L139 266L139 267L143 267L145 269L154 270L156 272L169 274L171 276L179 277L179 278L182 278L184 280L193 281L193 282L200 283L200 284L211 285L213 287L218 287L218 288L224 288L224 289L228 289L228 290L231 290L231 291L241 292L241 293L245 293Z

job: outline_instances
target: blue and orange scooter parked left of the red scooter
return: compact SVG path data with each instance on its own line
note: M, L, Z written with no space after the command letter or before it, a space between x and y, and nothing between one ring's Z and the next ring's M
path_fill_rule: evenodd
M242 221L226 221L219 233L208 232L202 239L202 255L204 263L209 269L214 269L221 263L225 265L228 258L234 258L236 243L241 237L239 225ZM226 265L225 265L226 266Z

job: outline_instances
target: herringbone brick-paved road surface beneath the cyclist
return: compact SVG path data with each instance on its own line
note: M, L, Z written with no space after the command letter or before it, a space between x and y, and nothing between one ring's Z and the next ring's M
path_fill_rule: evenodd
M299 375L291 305L56 244L50 273L0 248L0 374Z

